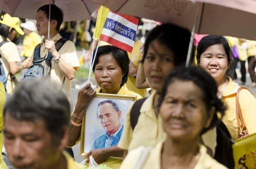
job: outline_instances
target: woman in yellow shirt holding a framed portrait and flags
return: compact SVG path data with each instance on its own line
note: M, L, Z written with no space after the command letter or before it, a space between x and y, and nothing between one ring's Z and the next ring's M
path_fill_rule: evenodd
M97 93L108 93L117 95L134 95L137 99L142 97L137 93L129 91L125 87L128 78L130 59L127 52L115 46L100 46L96 54L95 63L93 65L93 72L100 87L94 91L90 84L87 84L79 91L76 108L71 119L75 123L82 123L82 118L85 114L87 104L92 99L93 95ZM68 147L79 143L81 135L81 126L71 126ZM112 169L119 169L122 160L107 159L108 156L122 156L123 150L117 146L111 146L105 149L93 149L87 153L87 157L93 156L97 163L105 163ZM87 159L89 162L89 159Z

